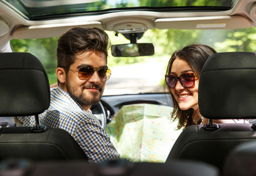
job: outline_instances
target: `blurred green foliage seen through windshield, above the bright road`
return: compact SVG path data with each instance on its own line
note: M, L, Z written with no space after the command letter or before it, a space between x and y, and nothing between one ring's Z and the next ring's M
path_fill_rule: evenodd
M115 36L107 32L112 44L129 43L122 34ZM154 43L154 56L140 57L113 57L109 50L108 65L129 65L138 62L147 62L151 59L168 62L171 54L177 49L192 43L210 45L218 52L227 51L256 51L256 29L235 30L178 30L178 29L152 29L143 34L138 43ZM31 40L11 40L13 51L30 52L46 67L50 84L57 81L55 70L57 67L56 50L57 37Z

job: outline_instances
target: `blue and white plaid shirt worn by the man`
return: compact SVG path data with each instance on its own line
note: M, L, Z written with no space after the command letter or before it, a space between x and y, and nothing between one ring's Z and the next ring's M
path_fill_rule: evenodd
M82 106L60 87L51 89L49 109L39 117L40 122L49 128L68 131L82 147L90 163L120 158L99 120L91 111L82 109ZM17 125L33 126L35 117L15 117L15 122Z

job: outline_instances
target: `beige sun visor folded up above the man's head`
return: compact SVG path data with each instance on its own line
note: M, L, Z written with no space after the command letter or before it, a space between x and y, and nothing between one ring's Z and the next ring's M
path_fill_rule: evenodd
M44 24L37 26L21 27L13 32L14 39L34 39L34 38L47 38L47 37L60 37L68 29L74 27L92 28L97 27L103 29L102 23L99 21L90 21L86 23L57 23L57 24Z

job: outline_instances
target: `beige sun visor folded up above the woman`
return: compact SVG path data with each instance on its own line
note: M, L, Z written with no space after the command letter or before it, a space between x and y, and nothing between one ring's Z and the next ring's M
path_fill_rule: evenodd
M252 26L247 18L240 15L159 18L154 23L157 29L238 29Z

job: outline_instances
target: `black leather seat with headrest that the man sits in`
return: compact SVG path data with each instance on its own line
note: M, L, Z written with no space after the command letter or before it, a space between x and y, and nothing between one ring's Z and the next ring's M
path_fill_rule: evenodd
M0 160L86 159L79 144L62 129L40 125L38 114L49 108L46 71L29 53L0 54L0 117L35 115L35 127L0 128Z

